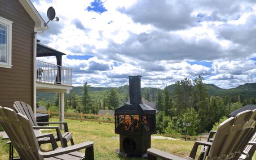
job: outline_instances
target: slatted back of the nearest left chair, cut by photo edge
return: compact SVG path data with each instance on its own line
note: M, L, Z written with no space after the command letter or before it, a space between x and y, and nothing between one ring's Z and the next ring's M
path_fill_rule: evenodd
M31 123L25 116L0 106L0 124L22 160L43 160Z

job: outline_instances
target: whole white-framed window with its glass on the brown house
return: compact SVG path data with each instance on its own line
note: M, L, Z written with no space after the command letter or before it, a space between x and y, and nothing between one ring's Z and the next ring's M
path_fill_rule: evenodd
M0 67L12 67L12 23L0 17Z

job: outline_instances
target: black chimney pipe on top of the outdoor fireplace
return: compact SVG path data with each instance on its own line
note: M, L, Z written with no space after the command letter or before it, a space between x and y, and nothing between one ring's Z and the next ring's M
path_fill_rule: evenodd
M129 76L130 104L141 104L141 76Z

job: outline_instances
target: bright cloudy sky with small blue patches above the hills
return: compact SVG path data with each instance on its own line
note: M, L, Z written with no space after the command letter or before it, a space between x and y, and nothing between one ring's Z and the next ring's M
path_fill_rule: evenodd
M31 0L47 22L38 35L66 53L72 85L163 88L198 75L232 88L256 82L255 0ZM40 57L56 64L55 57Z

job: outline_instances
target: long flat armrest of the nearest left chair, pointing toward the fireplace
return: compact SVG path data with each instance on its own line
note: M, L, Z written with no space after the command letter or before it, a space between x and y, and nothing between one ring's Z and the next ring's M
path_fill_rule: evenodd
M70 147L61 148L61 149L57 149L57 150L54 150L54 151L48 151L48 152L39 151L39 154L41 156L43 156L44 158L50 158L50 157L53 157L53 156L60 156L60 155L70 153L70 152L73 152L73 151L79 151L81 149L89 148L89 147L93 147L93 142L88 141L88 142L84 142L84 143L75 144L75 145L70 146Z

